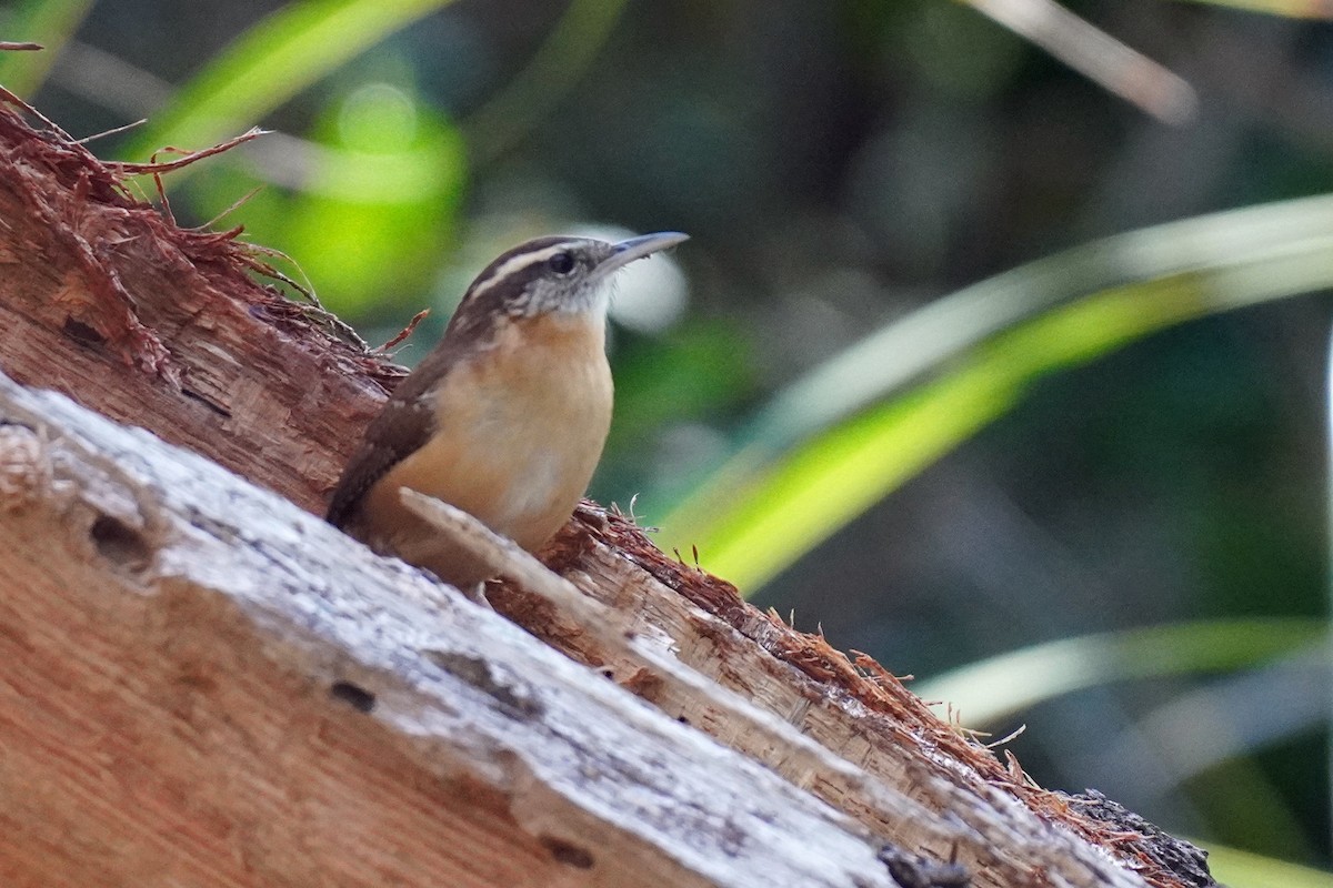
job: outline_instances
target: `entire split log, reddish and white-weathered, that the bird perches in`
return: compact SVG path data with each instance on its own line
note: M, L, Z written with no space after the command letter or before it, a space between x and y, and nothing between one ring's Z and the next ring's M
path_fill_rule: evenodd
M401 370L259 256L0 105L0 366L151 431L0 385L5 884L1212 884L615 511L419 503L499 614L325 526Z

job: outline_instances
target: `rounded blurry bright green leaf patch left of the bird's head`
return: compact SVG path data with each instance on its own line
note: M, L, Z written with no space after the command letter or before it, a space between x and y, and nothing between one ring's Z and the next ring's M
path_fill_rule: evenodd
M299 190L263 188L237 214L247 237L292 257L335 312L416 312L465 193L463 136L411 89L367 84L324 109L303 150ZM209 216L256 184L216 165L187 193Z

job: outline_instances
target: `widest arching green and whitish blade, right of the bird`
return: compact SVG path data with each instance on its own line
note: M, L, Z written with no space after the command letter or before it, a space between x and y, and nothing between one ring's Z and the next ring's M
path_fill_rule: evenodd
M706 568L753 590L1041 375L1174 324L1328 286L1333 197L1142 229L982 281L778 394L661 522L661 542L697 545Z

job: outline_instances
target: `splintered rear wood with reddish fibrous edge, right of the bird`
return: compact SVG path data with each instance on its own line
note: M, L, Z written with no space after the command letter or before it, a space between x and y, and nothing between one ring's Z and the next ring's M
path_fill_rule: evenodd
M493 596L541 638L846 811L873 835L928 859L956 860L974 885L1144 884L1073 832L1110 829L1069 812L1061 825L1038 817L1006 785L1006 772L992 770L997 781L986 779L985 766L996 764L989 751L948 728L941 734L944 726L901 684L889 687L917 710L916 718L885 718L853 696L830 694L692 607L627 556L636 546L613 549L585 534L572 543L575 555L560 551L571 545L567 534L548 551L552 562L563 562L563 578L464 513L415 491L403 495L517 583L492 586ZM589 506L580 517L612 521ZM820 655L816 646L805 651ZM1028 795L1037 793L1029 788Z

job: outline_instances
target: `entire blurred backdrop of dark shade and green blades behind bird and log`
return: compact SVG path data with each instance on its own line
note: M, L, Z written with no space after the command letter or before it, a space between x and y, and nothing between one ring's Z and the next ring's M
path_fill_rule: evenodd
M690 233L617 297L593 495L964 726L1026 726L1040 784L1232 884L1333 885L1329 13L32 0L0 39L47 51L0 84L79 138L148 118L105 158L275 130L172 210L372 345L432 309L408 365L529 236Z

